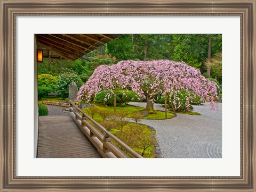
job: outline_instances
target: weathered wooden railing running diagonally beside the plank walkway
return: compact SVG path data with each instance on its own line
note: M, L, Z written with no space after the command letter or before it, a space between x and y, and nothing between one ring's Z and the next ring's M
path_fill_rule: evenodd
M70 116L74 119L78 127L82 130L84 135L91 141L91 143L97 148L98 152L102 157L129 157L114 143L111 142L113 139L118 145L120 145L125 151L129 152L133 157L143 158L132 148L126 145L122 140L118 139L115 135L109 132L106 128L101 126L98 122L92 119L89 115L84 113L74 103L70 102ZM89 122L90 120L91 122Z

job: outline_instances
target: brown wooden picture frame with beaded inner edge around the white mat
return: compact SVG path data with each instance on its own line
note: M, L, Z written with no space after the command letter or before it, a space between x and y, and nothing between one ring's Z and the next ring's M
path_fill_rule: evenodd
M256 1L0 0L0 191L256 191ZM196 15L241 18L239 177L21 177L15 164L15 25L19 15ZM18 97L18 96L17 96Z

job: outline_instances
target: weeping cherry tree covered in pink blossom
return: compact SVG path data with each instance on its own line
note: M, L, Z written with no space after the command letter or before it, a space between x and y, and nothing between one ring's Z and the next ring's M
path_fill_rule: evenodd
M154 110L156 95L174 96L174 106L179 106L180 90L186 90L186 106L196 93L202 100L211 101L217 96L217 85L203 77L199 70L184 62L170 60L121 61L115 65L99 66L77 94L77 99L89 102L101 90L115 90L116 87L132 89L138 96L147 99L147 110ZM110 95L109 95L110 96ZM107 96L108 97L108 96ZM107 99L107 98L106 98ZM166 102L165 102L166 103ZM114 104L115 105L115 104Z

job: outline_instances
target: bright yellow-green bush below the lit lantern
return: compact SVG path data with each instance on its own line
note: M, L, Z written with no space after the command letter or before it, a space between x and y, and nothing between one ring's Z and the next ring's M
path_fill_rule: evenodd
M47 87L50 88L51 91L54 91L55 85L57 84L57 78L52 76L51 74L39 74L37 77L37 85L38 87Z

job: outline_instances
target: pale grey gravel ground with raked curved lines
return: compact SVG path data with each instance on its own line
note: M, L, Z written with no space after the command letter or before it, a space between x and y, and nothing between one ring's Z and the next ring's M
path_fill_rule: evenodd
M131 102L129 105L146 107L146 103ZM209 110L209 104L194 105L194 112L201 115L177 114L167 120L142 120L154 127L156 137L165 158L221 158L222 156L222 104L218 112ZM161 104L155 110L164 111Z

